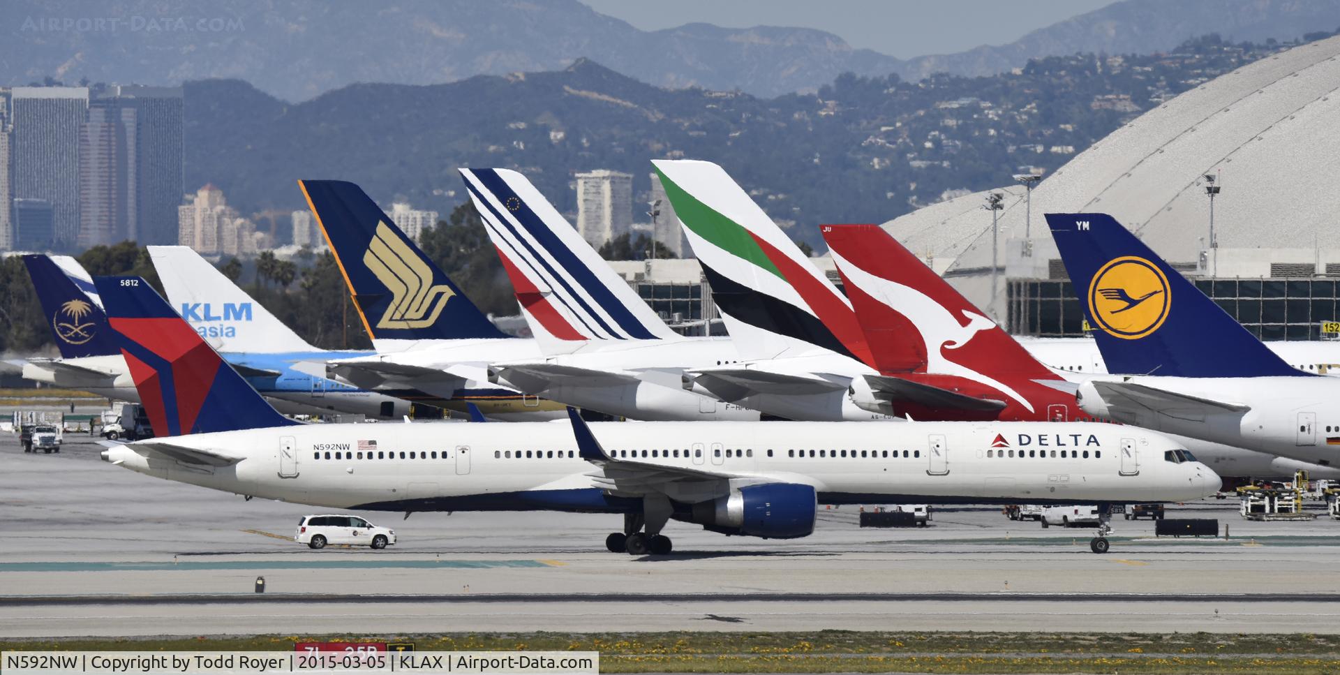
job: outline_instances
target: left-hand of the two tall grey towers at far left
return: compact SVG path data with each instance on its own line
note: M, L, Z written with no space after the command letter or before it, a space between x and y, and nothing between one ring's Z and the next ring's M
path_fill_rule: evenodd
M88 88L13 87L9 110L13 198L47 201L52 245L74 246L79 234L79 135L88 118Z

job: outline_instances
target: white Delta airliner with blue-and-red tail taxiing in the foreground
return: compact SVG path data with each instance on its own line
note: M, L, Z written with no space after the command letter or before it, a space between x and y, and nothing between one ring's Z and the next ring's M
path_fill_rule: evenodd
M667 521L793 538L817 504L1119 504L1194 500L1218 477L1151 431L1092 423L587 426L293 425L255 394L146 281L95 280L110 327L166 437L105 461L149 475L340 509L567 510L624 516L606 545L667 553ZM1123 446L1136 449L1131 471ZM592 469L594 467L594 469ZM1107 552L1101 536L1095 552Z

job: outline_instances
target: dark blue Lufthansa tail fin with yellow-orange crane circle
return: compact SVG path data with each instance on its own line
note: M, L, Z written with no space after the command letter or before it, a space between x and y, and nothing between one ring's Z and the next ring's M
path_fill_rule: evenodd
M1048 213L1108 372L1179 378L1306 375L1106 213Z

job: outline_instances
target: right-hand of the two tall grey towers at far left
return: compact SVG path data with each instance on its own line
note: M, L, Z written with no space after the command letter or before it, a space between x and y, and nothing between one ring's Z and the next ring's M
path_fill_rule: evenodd
M181 88L95 91L80 134L80 245L177 242L182 192Z

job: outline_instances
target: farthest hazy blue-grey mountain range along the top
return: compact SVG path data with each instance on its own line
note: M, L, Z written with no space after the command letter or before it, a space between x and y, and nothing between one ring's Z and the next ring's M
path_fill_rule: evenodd
M1340 0L1124 0L1009 44L909 60L808 28L639 31L576 0L7 0L0 27L8 84L237 78L306 100L358 82L446 83L586 56L655 86L775 96L848 71L989 75L1048 55L1150 54L1210 32L1289 39L1340 27Z

